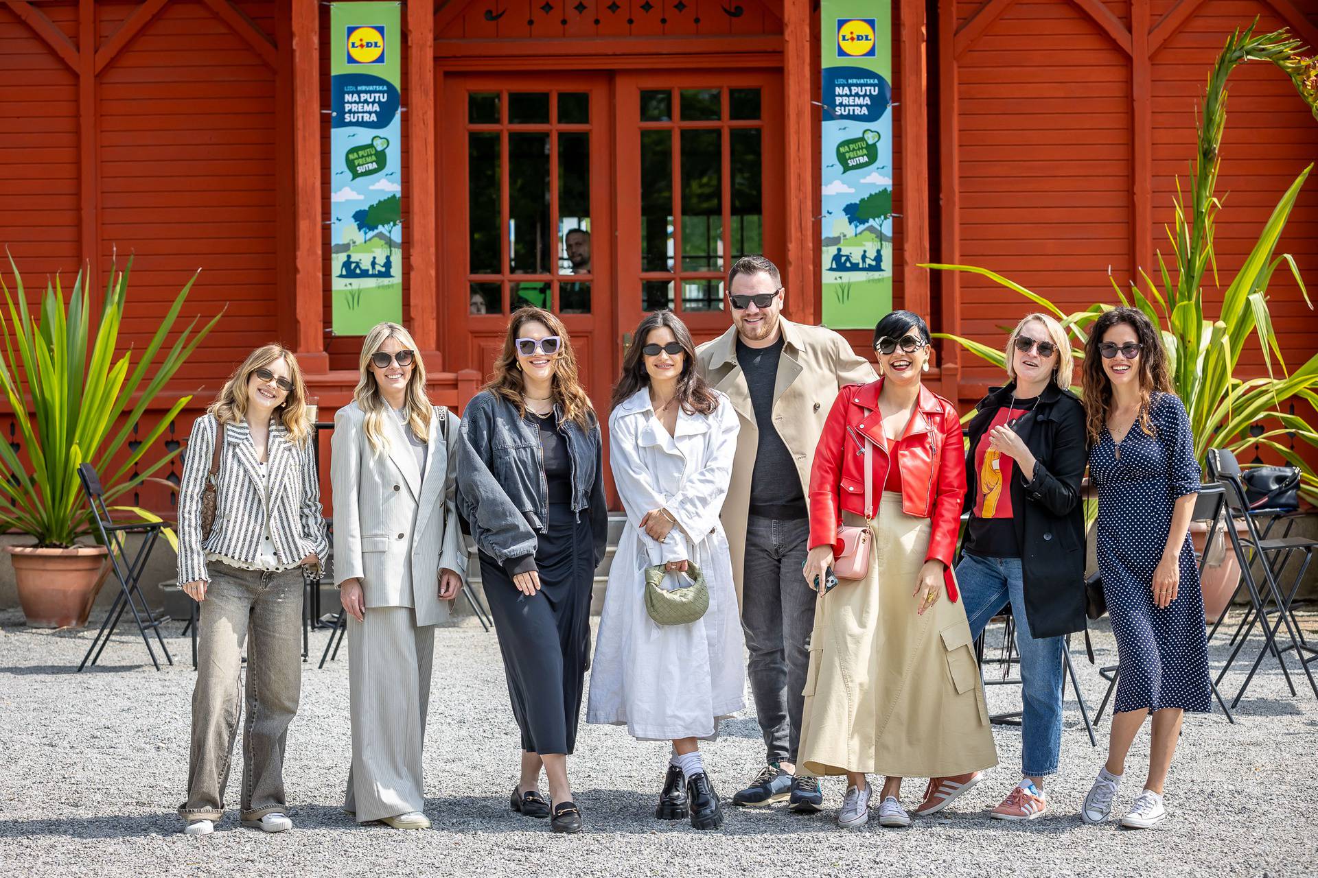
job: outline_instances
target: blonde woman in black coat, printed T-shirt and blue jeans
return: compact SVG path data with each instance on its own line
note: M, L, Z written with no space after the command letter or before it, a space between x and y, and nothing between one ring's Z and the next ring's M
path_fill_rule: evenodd
M1068 390L1070 344L1033 313L1007 340L1006 387L981 400L966 454L966 524L957 581L979 637L1008 603L1016 620L1024 710L1020 783L992 810L1000 820L1044 813L1044 777L1062 733L1062 637L1085 628L1085 407ZM981 775L932 778L917 813L932 813Z

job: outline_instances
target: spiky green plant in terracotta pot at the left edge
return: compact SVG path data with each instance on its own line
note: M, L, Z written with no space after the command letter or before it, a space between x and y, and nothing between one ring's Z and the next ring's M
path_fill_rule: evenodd
M123 271L111 265L99 309L92 308L79 272L67 303L58 275L46 283L38 315L28 308L12 257L9 266L12 291L0 274L7 304L7 313L0 312L0 387L17 425L20 449L0 442L0 527L34 541L7 546L28 624L83 625L108 565L105 546L79 542L94 528L78 466L90 461L96 467L105 502L112 504L178 453L148 459L156 440L191 396L174 401L145 429L141 441L129 442L129 434L134 424L148 426L142 423L148 407L219 316L199 330L194 319L166 346L194 275L134 366L132 349L116 355L132 259ZM95 333L90 329L94 319ZM111 508L159 521L137 507ZM175 544L171 532L166 538Z

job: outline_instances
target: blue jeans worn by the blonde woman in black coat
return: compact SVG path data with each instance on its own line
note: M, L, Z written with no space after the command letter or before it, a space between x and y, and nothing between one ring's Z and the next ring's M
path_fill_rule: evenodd
M957 582L971 637L979 637L988 620L1011 603L1023 702L1020 773L1032 778L1054 774L1062 749L1062 638L1029 636L1020 558L966 553L957 565Z

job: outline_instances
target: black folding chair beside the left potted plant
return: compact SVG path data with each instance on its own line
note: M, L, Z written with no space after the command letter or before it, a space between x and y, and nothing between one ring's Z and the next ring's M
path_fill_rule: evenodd
M141 590L141 578L146 570L146 561L152 557L152 549L156 548L156 540L159 538L165 524L161 521L115 524L109 516L109 509L105 507L105 491L101 488L96 469L91 463L79 465L78 479L82 482L83 491L87 492L87 502L91 505L92 519L96 521L96 530L100 533L100 540L109 552L111 570L115 573L115 579L119 581L119 594L115 595L115 603L109 606L105 621L101 623L100 631L96 632L91 646L87 648L87 654L83 656L78 670L80 671L88 663L95 665L100 661L100 654L105 650L105 644L109 642L115 628L119 627L119 620L123 617L124 609L133 612L137 631L142 636L142 642L146 644L146 653L152 657L152 665L156 666L156 670L161 669L161 663L156 658L156 650L152 649L152 640L146 633L148 629L156 632L156 640L159 642L161 652L165 653L165 661L173 665L174 659L170 657L165 638L161 636L161 625L169 621L169 616L152 611L146 603L146 595ZM142 544L138 546L132 561L128 558L128 534L130 533L142 534ZM138 604L141 604L141 608L138 608Z

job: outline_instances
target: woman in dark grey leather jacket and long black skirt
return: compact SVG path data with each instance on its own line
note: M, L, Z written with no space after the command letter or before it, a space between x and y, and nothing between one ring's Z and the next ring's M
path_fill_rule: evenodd
M480 549L522 733L511 807L552 817L555 832L577 832L567 757L576 746L590 588L609 511L600 424L558 317L540 308L511 316L494 378L467 404L459 442L459 508ZM552 811L539 794L542 770Z

